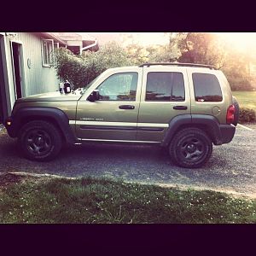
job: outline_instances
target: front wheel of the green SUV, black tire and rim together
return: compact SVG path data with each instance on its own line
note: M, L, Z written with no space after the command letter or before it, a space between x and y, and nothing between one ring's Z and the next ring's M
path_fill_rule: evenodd
M22 126L18 142L21 152L29 160L52 160L62 147L60 131L46 121L31 121Z

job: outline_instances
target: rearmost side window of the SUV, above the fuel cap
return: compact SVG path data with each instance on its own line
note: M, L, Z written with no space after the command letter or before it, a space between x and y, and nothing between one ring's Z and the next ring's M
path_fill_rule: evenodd
M221 102L222 92L215 75L210 73L192 74L196 102Z

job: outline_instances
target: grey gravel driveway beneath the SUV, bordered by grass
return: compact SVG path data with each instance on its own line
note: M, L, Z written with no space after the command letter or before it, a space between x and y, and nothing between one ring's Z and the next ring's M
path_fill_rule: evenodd
M229 144L214 146L199 169L174 166L159 147L86 144L63 148L51 162L23 159L15 139L0 131L0 172L35 172L67 177L121 177L127 181L216 189L256 197L256 125L237 126Z

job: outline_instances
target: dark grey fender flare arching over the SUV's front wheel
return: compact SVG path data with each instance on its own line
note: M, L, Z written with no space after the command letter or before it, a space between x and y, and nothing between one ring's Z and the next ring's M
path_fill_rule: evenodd
M54 119L58 128L62 131L67 143L75 143L76 138L73 131L69 125L69 119L67 114L61 111L59 108L50 107L35 107L35 108L20 108L15 112L15 115L11 117L13 122L12 135L13 137L18 136L18 131L20 131L20 125L24 119Z

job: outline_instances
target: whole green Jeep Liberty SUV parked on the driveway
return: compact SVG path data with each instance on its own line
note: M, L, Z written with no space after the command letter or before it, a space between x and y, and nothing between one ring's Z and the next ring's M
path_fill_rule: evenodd
M80 91L18 99L5 125L30 160L55 158L63 143L143 143L194 168L209 160L212 143L230 143L238 111L214 67L146 63L108 69Z

